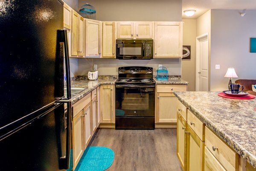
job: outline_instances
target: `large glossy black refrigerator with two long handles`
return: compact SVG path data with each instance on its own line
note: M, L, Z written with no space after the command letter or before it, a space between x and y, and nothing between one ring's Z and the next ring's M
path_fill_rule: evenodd
M0 0L0 171L69 168L70 69L61 29L61 0Z

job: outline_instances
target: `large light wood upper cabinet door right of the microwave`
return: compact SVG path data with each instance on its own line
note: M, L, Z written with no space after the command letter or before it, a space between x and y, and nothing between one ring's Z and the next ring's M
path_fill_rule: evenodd
M154 58L182 57L182 23L155 22Z

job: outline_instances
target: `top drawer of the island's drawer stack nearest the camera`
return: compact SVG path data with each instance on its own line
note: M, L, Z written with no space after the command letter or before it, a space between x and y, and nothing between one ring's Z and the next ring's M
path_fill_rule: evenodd
M205 128L205 146L227 171L238 171L239 154L233 151L207 127Z

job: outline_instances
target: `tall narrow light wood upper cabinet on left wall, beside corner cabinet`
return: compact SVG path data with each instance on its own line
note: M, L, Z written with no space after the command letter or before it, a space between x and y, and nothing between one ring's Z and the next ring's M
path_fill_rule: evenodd
M72 10L71 55L84 56L84 18Z

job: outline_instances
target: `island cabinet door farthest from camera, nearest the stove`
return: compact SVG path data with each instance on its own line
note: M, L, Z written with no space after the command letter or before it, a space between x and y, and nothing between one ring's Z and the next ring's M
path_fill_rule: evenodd
M177 113L177 157L183 171L186 170L186 121Z

